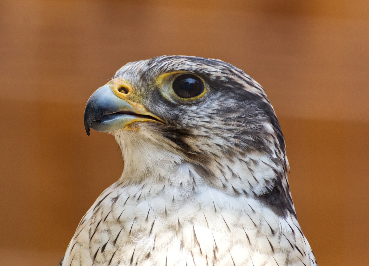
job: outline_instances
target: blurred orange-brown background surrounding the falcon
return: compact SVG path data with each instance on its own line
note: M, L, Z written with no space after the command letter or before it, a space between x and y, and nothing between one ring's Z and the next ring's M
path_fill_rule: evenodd
M0 1L0 265L57 265L121 174L90 94L129 61L217 58L265 88L318 263L368 265L369 2Z

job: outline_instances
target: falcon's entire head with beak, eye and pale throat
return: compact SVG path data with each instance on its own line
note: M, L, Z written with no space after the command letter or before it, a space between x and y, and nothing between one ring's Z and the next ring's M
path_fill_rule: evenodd
M278 204L291 209L273 107L257 82L223 61L159 56L127 63L90 97L85 128L87 135L90 128L111 132L131 172L187 163L218 189L269 193L268 204L282 193L287 201Z

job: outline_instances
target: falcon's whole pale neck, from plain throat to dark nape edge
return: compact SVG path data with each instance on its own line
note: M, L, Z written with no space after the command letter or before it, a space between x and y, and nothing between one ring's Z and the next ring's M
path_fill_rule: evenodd
M187 193L216 189L229 196L255 198L280 216L296 215L287 180L286 158L277 156L276 151L249 151L197 164L139 134L132 137L123 131L115 138L124 160L124 170L118 180L120 186L160 183L181 187Z

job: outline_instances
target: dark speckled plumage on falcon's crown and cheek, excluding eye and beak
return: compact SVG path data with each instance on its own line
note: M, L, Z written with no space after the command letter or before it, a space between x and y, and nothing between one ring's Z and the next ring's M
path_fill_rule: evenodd
M157 82L165 73L192 73L206 83L207 93L196 100L168 99L165 84ZM286 179L287 159L284 138L277 117L263 88L241 69L216 59L193 56L159 56L127 63L114 78L129 80L141 94L148 110L165 121L153 125L185 160L207 176L214 186L231 194L245 193L270 205L277 213L294 214ZM251 158L261 154L268 161ZM250 158L250 159L249 159ZM234 173L240 183L220 182L224 167L245 160L246 173ZM266 163L273 175L258 180L256 188L242 175L252 165ZM248 167L248 168L247 168ZM242 183L242 184L241 184Z

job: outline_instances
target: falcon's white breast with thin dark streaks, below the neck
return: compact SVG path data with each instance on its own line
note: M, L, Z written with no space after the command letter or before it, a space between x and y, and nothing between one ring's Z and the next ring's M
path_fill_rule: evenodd
M308 244L293 217L279 217L255 199L209 187L189 164L179 165L168 178L176 177L180 185L147 179L108 187L82 218L65 260L73 258L75 265L266 265L274 258L278 265L304 260L309 265L302 255Z

